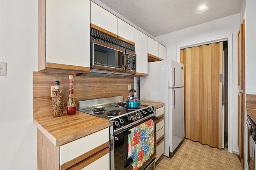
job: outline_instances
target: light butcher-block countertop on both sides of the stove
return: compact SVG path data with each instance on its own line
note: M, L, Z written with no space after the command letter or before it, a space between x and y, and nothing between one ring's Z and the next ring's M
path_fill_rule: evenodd
M155 106L156 109L164 106L164 103L148 101L141 101L141 104ZM75 115L67 115L64 112L61 117L52 117L51 114L34 116L34 124L55 146L63 145L110 126L108 120L80 111L76 111Z

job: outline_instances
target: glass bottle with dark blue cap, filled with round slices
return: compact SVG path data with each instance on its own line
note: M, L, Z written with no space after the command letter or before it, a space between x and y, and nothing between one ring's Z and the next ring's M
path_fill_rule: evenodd
M54 90L52 91L52 116L58 117L63 115L62 90L60 90L60 82L54 82Z

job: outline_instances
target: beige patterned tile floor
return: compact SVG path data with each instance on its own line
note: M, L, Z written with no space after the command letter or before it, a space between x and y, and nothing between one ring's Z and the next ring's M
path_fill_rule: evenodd
M155 165L156 170L241 170L236 154L228 149L218 149L185 139L180 148L168 158L162 155Z

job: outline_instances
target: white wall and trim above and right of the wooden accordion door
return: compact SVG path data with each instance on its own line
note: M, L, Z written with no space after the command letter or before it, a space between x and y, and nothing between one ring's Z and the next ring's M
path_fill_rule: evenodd
M183 47L185 45L192 45L201 43L204 41L210 41L212 39L219 39L220 37L226 37L232 34L233 39L233 146L232 150L234 152L238 152L237 147L237 125L238 125L238 75L237 75L237 32L240 26L240 14L234 14L232 16L228 16L225 18L221 18L218 20L210 21L207 23L203 23L200 25L196 25L193 27L189 27L186 29L182 29L179 31L175 31L172 33L168 33L166 35L161 35L156 37L156 41L162 43L165 47L167 47L167 59L178 60L180 59L179 54L177 53L177 47Z

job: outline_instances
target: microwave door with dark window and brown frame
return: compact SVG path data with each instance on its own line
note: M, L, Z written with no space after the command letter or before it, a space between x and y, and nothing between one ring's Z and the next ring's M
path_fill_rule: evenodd
M125 72L125 51L92 39L92 68Z

